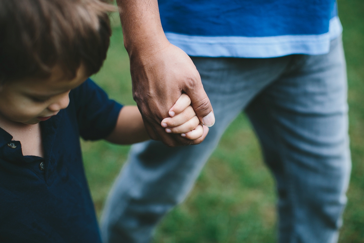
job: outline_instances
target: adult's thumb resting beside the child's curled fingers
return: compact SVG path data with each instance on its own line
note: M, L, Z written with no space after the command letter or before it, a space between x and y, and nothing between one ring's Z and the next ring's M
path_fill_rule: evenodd
M208 127L213 126L215 124L214 111L202 84L197 90L187 91L186 94L190 97L191 106L202 124Z

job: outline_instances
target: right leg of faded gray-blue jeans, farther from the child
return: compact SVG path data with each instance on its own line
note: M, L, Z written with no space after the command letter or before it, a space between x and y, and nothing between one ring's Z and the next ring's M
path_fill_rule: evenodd
M279 242L335 243L351 171L341 39L291 65L246 112L276 178Z

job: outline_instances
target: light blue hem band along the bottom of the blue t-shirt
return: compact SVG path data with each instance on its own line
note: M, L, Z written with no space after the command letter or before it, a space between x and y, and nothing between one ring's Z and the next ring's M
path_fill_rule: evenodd
M322 55L343 31L340 19L330 20L329 31L320 35L192 36L166 32L167 39L190 56L272 58L291 54Z

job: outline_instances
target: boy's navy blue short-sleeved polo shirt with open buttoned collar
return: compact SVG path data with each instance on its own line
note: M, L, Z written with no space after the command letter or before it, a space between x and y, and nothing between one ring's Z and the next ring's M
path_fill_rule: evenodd
M87 79L66 109L40 122L44 158L23 156L0 129L0 242L101 242L79 137L108 136L121 108Z

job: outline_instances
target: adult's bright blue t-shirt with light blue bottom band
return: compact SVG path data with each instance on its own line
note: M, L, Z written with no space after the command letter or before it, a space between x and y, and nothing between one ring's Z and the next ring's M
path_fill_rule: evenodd
M168 40L191 56L319 55L340 36L336 0L159 0Z

